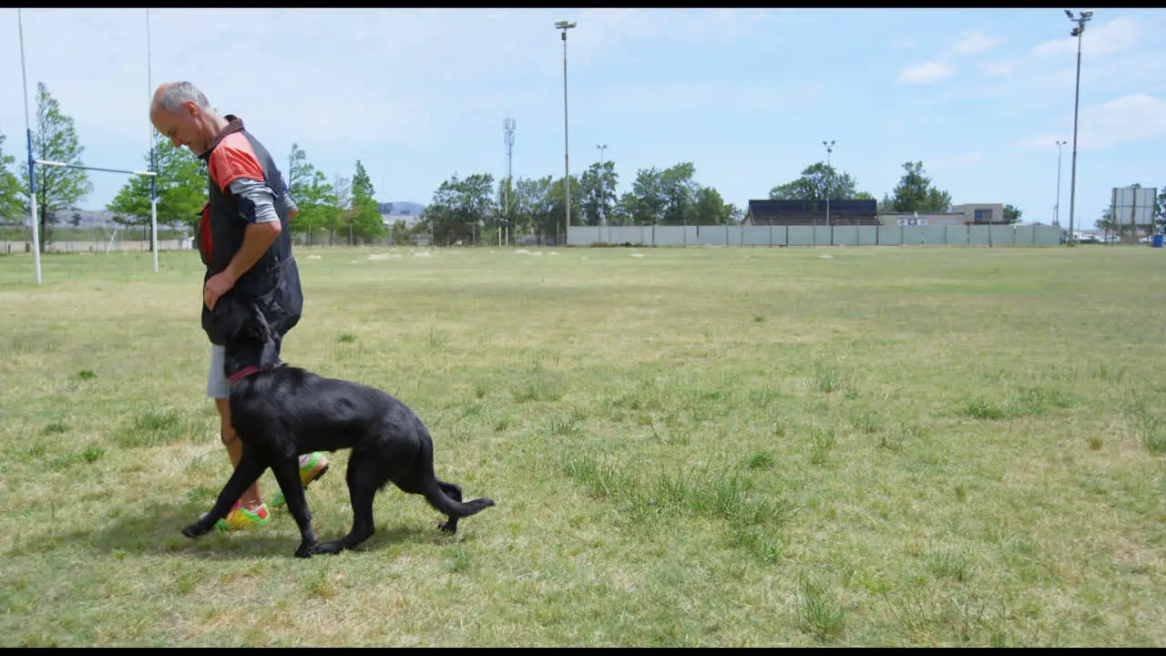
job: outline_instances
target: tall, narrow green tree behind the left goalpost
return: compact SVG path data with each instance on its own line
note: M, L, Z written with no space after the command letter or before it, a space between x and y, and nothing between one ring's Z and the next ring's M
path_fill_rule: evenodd
M61 105L49 93L43 82L36 84L36 127L33 131L33 156L37 160L84 166L80 161L85 148L77 142L73 119L61 113ZM24 208L31 207L28 196L28 170L22 172ZM36 209L41 222L41 252L50 240L49 223L56 222L57 210L68 209L84 198L93 186L84 169L64 166L36 168ZM27 211L27 209L26 209Z

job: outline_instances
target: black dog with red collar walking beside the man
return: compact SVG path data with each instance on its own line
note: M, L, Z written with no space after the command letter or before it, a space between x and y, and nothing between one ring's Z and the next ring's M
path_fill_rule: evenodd
M434 475L433 439L421 419L396 398L372 388L323 378L280 362L276 340L253 302L227 293L215 305L226 335L225 372L231 379L231 423L243 442L243 458L211 511L182 530L197 537L225 517L247 487L267 470L275 474L288 509L300 525L295 554L339 553L373 535L372 501L389 481L420 494L449 516L438 528L457 531L457 521L494 502L462 502L462 488ZM297 456L315 451L351 448L347 483L352 531L317 543L311 512L300 483Z

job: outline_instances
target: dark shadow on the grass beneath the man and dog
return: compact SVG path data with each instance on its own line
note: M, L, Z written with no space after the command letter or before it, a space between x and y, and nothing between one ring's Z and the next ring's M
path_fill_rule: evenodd
M133 514L125 514L108 522L100 522L100 529L62 529L59 523L37 531L14 536L14 545L7 556L44 553L62 547L80 546L120 557L134 554L173 554L181 553L192 558L215 560L286 556L293 558L300 546L300 530L292 514L286 509L273 512L272 521L258 529L243 531L218 531L188 538L182 529L198 518L205 509L195 509L182 504L140 503L133 507ZM392 519L389 519L392 521ZM395 526L378 530L371 538L353 551L379 551L394 543L405 544L445 544L450 542L437 529L438 519L433 522L433 532L413 526ZM347 525L340 531L321 530L318 522L314 526L319 542L337 539L347 532ZM381 525L382 526L382 525ZM326 558L326 554L314 558Z

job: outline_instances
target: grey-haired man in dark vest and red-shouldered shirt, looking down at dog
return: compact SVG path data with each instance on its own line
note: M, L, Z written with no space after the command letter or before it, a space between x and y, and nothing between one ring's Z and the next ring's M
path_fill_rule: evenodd
M243 456L243 444L231 425L231 384L223 372L226 336L211 310L219 296L234 293L255 301L268 324L283 336L298 321L303 307L300 273L292 257L288 221L300 212L267 149L243 126L243 119L215 112L206 96L189 82L166 83L154 92L150 123L176 148L185 146L206 162L210 200L202 210L196 233L203 277L203 330L211 341L206 396L215 399L220 437L233 466ZM328 470L322 453L300 456L300 480L315 481ZM272 505L282 505L282 493ZM239 497L219 529L246 529L269 521L259 496L259 481Z

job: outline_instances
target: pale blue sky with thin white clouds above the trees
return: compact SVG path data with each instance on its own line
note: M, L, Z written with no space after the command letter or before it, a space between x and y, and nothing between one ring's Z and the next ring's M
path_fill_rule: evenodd
M1081 8L1073 8L1079 11ZM451 175L563 173L568 34L571 172L691 161L745 205L826 158L881 197L921 160L955 203L1011 203L1049 222L1056 139L1068 224L1076 41L1062 9L26 9L30 112L43 81L84 161L140 168L148 103L189 79L286 162L297 142L329 179L360 160L381 201L428 203ZM1096 9L1083 41L1076 224L1110 189L1166 186L1166 11ZM0 132L22 158L15 9L0 11ZM91 172L99 209L125 182Z

